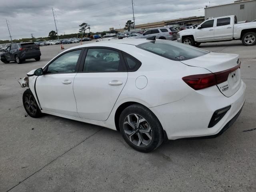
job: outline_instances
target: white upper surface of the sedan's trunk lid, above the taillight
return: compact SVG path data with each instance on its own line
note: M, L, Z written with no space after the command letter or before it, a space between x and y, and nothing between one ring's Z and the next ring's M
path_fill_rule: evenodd
M206 68L214 73L237 66L238 57L239 55L237 54L210 52L209 54L181 62L189 66Z

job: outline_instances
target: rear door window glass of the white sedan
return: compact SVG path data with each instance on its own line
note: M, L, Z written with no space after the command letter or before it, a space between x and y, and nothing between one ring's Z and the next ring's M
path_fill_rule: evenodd
M88 49L84 72L111 72L121 70L119 52L110 49Z

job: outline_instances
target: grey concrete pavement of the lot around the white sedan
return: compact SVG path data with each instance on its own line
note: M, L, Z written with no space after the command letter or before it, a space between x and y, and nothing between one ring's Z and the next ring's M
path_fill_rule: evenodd
M26 116L17 80L44 66L60 45L40 47L40 62L0 62L0 192L255 192L256 46L233 41L200 48L240 54L247 85L242 113L218 138L168 141L147 154L107 128Z

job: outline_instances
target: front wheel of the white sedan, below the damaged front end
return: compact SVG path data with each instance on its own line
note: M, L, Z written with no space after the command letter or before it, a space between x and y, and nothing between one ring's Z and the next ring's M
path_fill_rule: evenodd
M23 106L30 117L38 118L42 116L41 110L36 103L36 99L30 89L24 91L22 96Z

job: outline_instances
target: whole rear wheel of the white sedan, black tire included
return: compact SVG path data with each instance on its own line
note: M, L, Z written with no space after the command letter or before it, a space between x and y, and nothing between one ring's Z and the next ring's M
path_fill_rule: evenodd
M133 127L130 126L131 124L125 123L128 121L128 118L131 117L132 115L136 117L135 114L140 118L134 118L135 120L133 120L131 123L131 124L134 123ZM144 118L144 121L142 121L138 127L136 125L136 122L138 119L141 120L142 118ZM158 146L160 146L160 144L162 144L164 140L163 129L160 122L156 118L156 116L148 108L139 104L133 104L131 106L128 106L122 111L119 118L119 128L120 128L122 137L124 138L126 143L130 145L132 148L134 148L135 150L140 152L153 151L156 148L158 148ZM145 130L150 130L150 131L148 132ZM142 131L148 132L151 139ZM130 132L130 134L127 134L127 132ZM130 135L130 137L133 137L133 138L130 140L128 138L128 135ZM140 138L142 138L144 143ZM138 140L138 142L136 140Z

